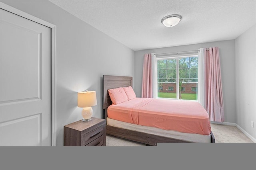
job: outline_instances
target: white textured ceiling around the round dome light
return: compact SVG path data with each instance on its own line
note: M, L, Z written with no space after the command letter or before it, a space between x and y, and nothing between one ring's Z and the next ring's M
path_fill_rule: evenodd
M133 49L236 39L256 23L256 0L50 0ZM174 27L164 16L180 14Z

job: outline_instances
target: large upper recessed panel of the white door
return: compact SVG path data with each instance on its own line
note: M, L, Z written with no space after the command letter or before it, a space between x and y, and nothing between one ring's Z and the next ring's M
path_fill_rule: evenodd
M40 33L1 21L1 39L4 41L1 41L1 60L4 61L1 64L1 81L6 83L1 84L0 101L8 103L41 98ZM24 43L24 39L29 44ZM30 66L24 67L23 63L29 63ZM24 78L23 75L29 76Z

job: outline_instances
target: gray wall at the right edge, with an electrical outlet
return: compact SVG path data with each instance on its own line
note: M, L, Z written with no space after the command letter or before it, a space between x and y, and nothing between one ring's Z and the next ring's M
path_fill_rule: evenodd
M256 139L256 26L235 40L236 123ZM254 127L251 127L251 121Z

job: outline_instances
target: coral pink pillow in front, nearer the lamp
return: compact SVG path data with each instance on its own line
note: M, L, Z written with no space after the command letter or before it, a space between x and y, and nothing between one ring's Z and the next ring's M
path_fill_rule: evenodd
M112 101L112 105L128 101L126 93L124 92L124 89L122 87L109 89L108 94Z

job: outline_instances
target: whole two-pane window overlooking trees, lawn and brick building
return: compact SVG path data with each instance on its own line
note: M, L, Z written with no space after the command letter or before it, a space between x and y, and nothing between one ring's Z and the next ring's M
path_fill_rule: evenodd
M157 58L157 80L158 98L197 100L198 56Z

